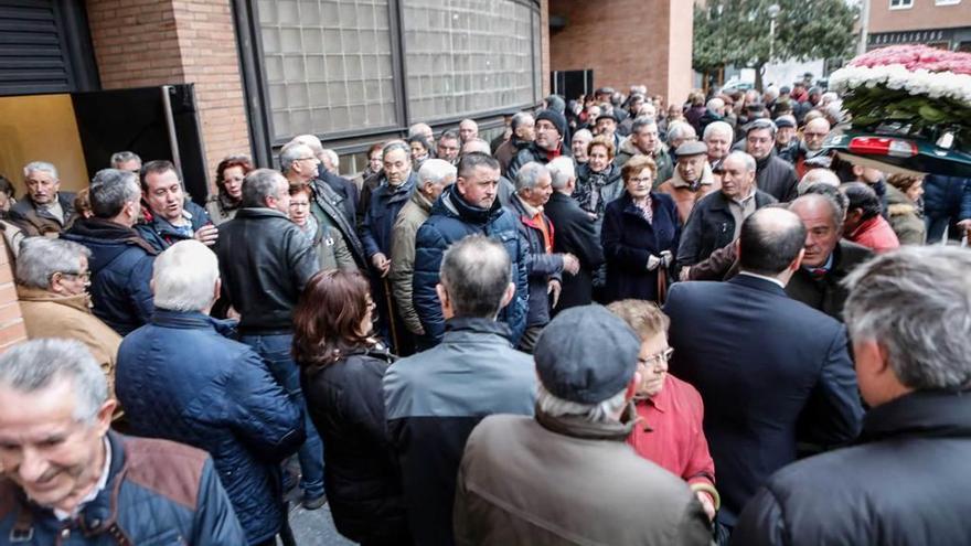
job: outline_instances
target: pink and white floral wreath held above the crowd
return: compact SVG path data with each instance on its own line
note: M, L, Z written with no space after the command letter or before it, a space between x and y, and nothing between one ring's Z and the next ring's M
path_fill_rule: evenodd
M969 53L926 45L874 50L834 72L830 89L843 94L856 129L933 141L950 133L953 144L971 149Z

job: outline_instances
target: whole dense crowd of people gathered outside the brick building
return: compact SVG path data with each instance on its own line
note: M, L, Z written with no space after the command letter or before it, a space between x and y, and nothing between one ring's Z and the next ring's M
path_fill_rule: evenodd
M831 153L844 116L601 88L199 203L26 164L0 543L291 545L297 486L365 546L971 542L971 180Z

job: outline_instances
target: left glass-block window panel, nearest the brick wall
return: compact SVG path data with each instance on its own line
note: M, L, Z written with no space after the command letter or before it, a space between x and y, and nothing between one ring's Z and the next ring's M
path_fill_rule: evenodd
M388 0L259 0L273 137L398 125Z

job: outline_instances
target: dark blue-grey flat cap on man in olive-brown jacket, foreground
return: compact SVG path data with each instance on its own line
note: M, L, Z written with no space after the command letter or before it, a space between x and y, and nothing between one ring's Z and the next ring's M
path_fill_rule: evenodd
M557 398L599 404L621 392L637 370L641 342L602 306L557 314L533 352L543 387Z

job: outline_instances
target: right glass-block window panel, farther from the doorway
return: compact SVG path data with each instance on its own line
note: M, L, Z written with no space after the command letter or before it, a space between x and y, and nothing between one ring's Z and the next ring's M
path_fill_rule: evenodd
M404 0L403 15L413 120L538 100L540 18L529 6L513 0Z

